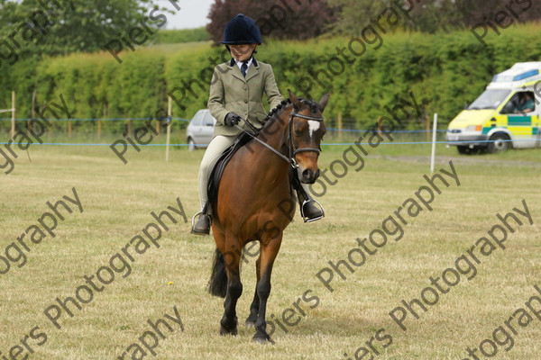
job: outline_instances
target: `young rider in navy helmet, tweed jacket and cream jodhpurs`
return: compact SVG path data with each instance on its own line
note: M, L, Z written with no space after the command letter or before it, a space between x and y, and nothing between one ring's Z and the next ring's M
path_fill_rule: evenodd
M215 67L213 83L210 86L208 109L216 119L214 137L199 168L199 200L201 211L192 233L208 235L211 219L208 214L207 184L212 166L226 148L229 148L243 130L252 127L261 129L267 113L263 108L262 97L267 95L271 109L278 106L284 98L278 90L272 67L257 61L253 54L261 45L261 31L252 18L243 14L236 15L224 31L221 41L231 53L231 60ZM226 69L226 71L224 71ZM307 194L305 189L304 193ZM304 215L307 220L317 220L323 217L323 211L318 209L314 201L307 196L304 205ZM298 196L301 206L305 199Z

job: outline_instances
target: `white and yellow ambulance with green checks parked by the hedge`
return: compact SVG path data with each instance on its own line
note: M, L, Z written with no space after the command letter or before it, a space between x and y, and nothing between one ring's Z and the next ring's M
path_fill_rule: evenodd
M461 154L541 148L541 62L517 63L494 76L449 123L445 140Z

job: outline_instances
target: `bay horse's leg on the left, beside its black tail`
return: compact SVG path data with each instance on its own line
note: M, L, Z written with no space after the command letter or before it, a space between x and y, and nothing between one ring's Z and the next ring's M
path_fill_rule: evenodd
M225 241L232 245L230 248L238 248L238 241ZM225 272L227 274L227 293L225 293L224 316L220 320L220 334L237 334L236 303L243 293L243 284L240 276L240 257L237 251L225 251Z

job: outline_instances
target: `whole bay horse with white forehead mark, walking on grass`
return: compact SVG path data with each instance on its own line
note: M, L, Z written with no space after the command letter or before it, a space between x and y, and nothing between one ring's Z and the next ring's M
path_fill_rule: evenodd
M246 320L247 326L255 327L252 339L258 343L273 342L265 321L272 265L280 250L283 231L297 207L289 168L293 166L301 183L314 184L319 176L320 142L326 132L322 112L329 95L316 103L299 99L288 91L289 99L267 115L257 138L231 158L222 175L217 201L211 204L216 249L208 291L225 298L224 316L220 320L222 335L237 334L235 307L243 293L240 277L243 247L251 241L260 243L255 266L257 284ZM284 203L289 203L286 211Z

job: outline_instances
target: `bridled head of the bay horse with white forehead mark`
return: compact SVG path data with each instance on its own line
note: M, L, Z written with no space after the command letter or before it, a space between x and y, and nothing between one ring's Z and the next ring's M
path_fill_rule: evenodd
M329 94L324 95L319 103L299 99L289 91L289 100L293 110L289 120L289 152L297 163L298 178L301 183L314 184L319 176L317 158L321 152L321 139L326 133L322 113L329 101Z

